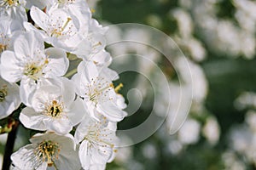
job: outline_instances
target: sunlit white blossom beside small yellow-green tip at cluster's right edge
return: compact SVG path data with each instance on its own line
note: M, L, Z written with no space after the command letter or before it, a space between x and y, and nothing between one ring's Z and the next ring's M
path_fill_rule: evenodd
M82 62L78 71L73 81L77 94L84 98L90 116L96 118L96 113L100 113L111 122L121 121L126 112L122 111L124 105L119 105L120 96L115 93L113 83L107 77L102 77L92 62Z

